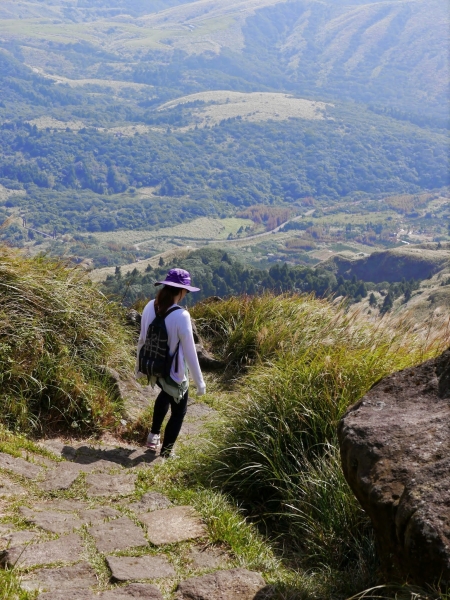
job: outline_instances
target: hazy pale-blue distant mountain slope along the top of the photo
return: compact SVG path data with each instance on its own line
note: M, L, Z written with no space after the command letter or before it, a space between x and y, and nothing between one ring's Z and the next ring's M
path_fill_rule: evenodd
M108 79L119 73L172 90L170 97L283 90L371 104L394 117L407 113L403 119L448 116L449 31L441 0L80 0L70 6L6 0L0 7L0 45L15 44L28 64L53 74L86 77L89 71ZM107 64L100 64L106 54Z

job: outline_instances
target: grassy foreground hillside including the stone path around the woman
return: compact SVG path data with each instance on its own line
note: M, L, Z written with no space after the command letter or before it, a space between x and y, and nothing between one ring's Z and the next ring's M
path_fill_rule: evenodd
M0 259L5 600L37 588L52 600L187 600L195 584L214 600L219 585L221 598L242 596L249 578L247 598L344 600L380 584L336 423L380 378L439 354L448 331L413 334L304 295L199 303L192 315L223 366L190 397L177 460L163 460L142 448L154 394L130 379L121 311L77 268L6 248ZM105 366L120 371L114 390Z

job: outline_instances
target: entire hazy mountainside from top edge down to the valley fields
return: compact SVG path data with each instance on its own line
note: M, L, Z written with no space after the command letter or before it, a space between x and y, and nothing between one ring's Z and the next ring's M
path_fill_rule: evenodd
M4 0L0 221L157 228L440 189L447 42L435 0Z

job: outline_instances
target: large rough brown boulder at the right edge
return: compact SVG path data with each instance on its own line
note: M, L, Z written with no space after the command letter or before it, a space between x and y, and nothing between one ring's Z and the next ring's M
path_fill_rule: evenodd
M339 424L389 581L450 584L450 351L386 377Z

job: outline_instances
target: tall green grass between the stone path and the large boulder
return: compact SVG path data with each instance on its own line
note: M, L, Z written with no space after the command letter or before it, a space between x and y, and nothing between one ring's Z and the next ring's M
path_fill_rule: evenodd
M341 577L349 594L375 585L372 531L342 474L337 424L380 378L445 348L448 332L374 324L295 295L231 298L192 312L228 361L228 378L236 376L227 425L199 465L205 479L281 536L304 567L351 573Z

